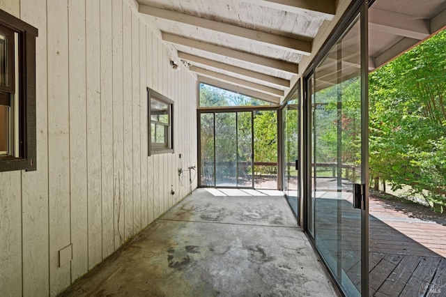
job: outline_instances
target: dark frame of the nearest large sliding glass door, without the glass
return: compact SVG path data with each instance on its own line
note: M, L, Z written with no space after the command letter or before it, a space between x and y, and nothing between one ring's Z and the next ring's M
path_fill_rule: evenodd
M307 236L310 238L310 242L313 245L314 250L318 253L318 256L325 263L320 252L316 248L315 232L312 234L309 222L310 219L314 220L314 214L312 213L312 88L314 88L314 70L318 63L325 59L325 56L332 50L332 47L337 43L337 40L342 36L355 18L360 15L360 47L361 47L361 183L364 187L364 209L361 211L361 295L369 296L369 98L368 98L368 8L372 1L367 0L353 0L350 6L347 8L341 20L334 27L330 37L325 41L321 50L318 52L314 60L309 64L309 67L302 75L303 87L302 87L302 135L303 135L303 167L302 173L302 197L303 197L303 229ZM311 80L313 79L313 80ZM314 224L313 224L314 227ZM341 285L337 283L336 277L327 269L328 273L332 276L334 283L337 285L341 294L344 294Z

